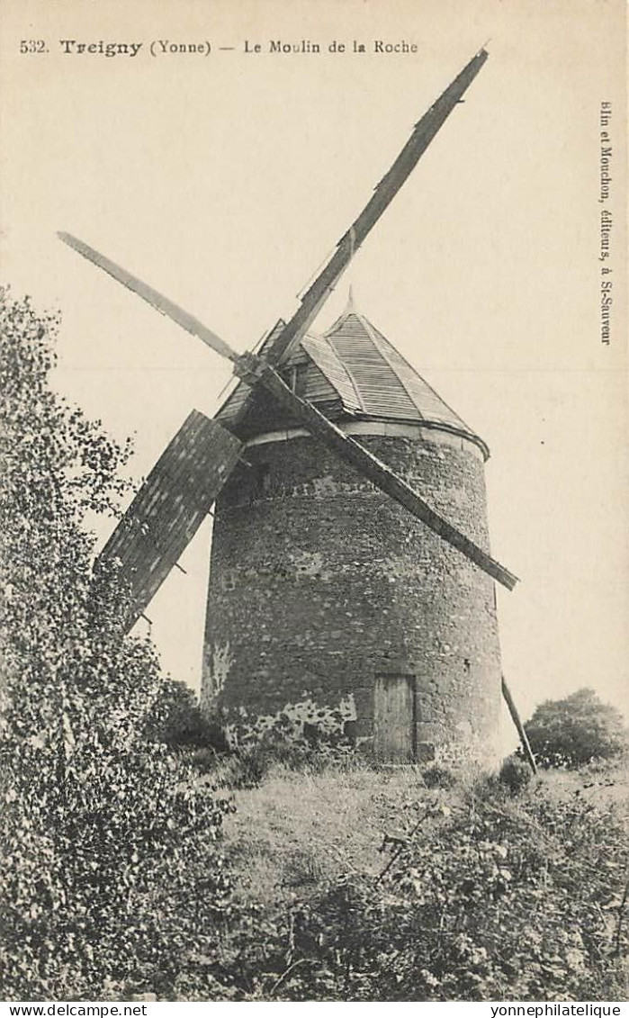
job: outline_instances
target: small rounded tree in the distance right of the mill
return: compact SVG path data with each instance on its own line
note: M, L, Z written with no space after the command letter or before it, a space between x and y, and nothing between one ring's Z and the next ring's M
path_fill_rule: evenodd
M629 745L623 716L604 703L593 689L579 689L565 699L546 700L524 726L542 767L578 768L620 755Z

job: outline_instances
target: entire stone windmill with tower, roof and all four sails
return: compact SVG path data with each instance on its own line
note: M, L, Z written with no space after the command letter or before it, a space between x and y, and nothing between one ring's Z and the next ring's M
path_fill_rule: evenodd
M480 50L417 122L366 206L258 353L70 234L61 238L227 357L240 380L193 410L96 568L119 563L126 623L145 612L216 503L207 702L269 713L304 692L350 701L380 758L489 759L500 703L483 441L350 302L312 323L354 252L488 58Z

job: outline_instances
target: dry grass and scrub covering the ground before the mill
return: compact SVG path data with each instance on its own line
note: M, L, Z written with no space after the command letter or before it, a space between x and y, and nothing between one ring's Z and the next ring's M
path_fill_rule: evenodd
M626 758L517 791L276 766L234 802L226 856L267 944L229 955L230 999L627 999Z

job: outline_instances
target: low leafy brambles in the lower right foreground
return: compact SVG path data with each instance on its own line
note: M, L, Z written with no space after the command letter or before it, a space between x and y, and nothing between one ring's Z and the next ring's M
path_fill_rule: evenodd
M428 793L430 794L430 793ZM229 941L240 1000L623 1000L627 832L616 809L496 782L423 793L356 870ZM248 931L247 931L248 930Z

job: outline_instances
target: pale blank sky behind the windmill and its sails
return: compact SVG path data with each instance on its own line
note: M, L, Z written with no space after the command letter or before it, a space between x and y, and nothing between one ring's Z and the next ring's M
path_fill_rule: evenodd
M292 314L413 124L487 44L465 103L316 328L351 283L488 442L492 550L521 577L499 589L503 664L525 717L584 685L629 704L624 19L623 0L7 0L0 19L3 280L61 309L55 385L118 439L134 435L136 478L192 407L214 413L229 365L56 231L250 348ZM321 52L270 52L302 40ZM109 58L101 41L141 47ZM191 685L210 539L208 521L147 613L165 668Z

